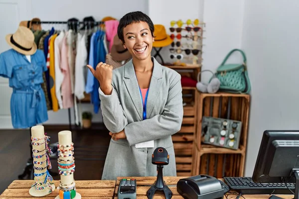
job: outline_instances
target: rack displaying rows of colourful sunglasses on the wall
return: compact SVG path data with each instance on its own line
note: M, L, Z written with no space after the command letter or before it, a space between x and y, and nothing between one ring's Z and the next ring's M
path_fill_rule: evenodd
M202 60L202 39L204 23L198 19L186 22L170 21L170 38L173 40L169 49L169 57L174 65L200 66ZM184 63L182 60L188 60ZM190 63L192 60L192 64Z

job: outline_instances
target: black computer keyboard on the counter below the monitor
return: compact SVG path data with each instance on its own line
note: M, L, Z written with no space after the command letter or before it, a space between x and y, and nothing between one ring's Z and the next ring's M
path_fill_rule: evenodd
M224 177L230 190L242 194L293 194L295 183L255 183L251 177ZM290 192L290 190L292 192Z

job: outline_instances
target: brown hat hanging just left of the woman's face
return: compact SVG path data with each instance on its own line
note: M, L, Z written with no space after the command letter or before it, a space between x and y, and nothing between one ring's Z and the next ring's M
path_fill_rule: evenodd
M124 48L122 41L118 38L117 34L113 38L113 45L110 53L112 58L118 62L132 57L129 50Z

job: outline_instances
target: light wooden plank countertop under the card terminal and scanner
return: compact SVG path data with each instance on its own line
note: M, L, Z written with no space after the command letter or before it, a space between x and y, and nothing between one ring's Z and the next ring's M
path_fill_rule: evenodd
M147 199L147 191L154 183L156 177L119 177L117 181L75 181L76 190L81 194L82 199L117 199L117 192L120 180L123 178L137 180L137 199ZM172 199L183 199L176 191L176 183L183 177L164 177L164 181L171 190ZM8 188L0 195L0 199L36 199L29 195L29 189L33 184L33 180L15 180ZM57 188L59 181L54 181ZM58 190L55 189L54 193L42 197L42 199L54 199L58 196ZM294 195L277 195L283 199L293 199ZM228 199L235 199L237 195L227 195ZM269 195L244 195L245 199L269 199ZM162 194L156 193L154 199L164 199ZM224 197L225 198L225 197ZM242 197L240 199L243 199Z

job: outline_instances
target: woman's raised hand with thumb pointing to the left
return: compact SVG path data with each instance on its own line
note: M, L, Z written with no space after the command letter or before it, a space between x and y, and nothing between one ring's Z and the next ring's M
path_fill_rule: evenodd
M96 70L92 66L87 65L93 76L99 81L101 90L105 95L110 95L112 92L112 70L113 66L100 62Z

